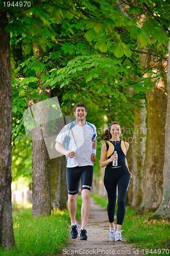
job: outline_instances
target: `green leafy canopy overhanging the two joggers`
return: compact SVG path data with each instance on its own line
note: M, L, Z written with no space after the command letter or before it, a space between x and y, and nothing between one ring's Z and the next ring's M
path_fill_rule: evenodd
M140 105L139 99L155 83L150 77L158 81L162 75L144 70L150 73L144 78L139 54L166 58L167 1L30 3L22 7L1 3L11 38L13 141L25 134L25 99L47 98L42 92L49 85L65 114L81 99L87 105L90 101L95 112L91 118L100 128L105 113L108 122L118 118L123 125L133 123L134 104ZM45 52L38 61L35 43ZM41 88L37 88L37 74Z

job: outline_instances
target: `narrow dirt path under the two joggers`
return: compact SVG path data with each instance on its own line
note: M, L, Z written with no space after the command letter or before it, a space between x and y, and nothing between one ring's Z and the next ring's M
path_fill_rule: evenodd
M63 256L78 256L78 255L143 255L141 250L138 250L133 245L126 244L123 232L123 242L112 242L109 238L107 211L96 205L91 199L91 210L89 221L87 224L87 241L77 239L69 240L70 244L63 248ZM80 231L81 223L79 222L78 231Z

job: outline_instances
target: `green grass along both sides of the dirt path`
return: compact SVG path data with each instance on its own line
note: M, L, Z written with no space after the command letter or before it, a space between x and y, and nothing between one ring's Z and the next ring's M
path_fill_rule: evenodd
M94 194L91 197L102 207L107 207L107 199ZM80 213L81 196L78 196L76 215L78 221ZM139 215L136 210L127 207L123 236L127 243L135 244L140 251L143 249L148 255L169 255L170 223L165 219L151 219L150 215L150 212ZM68 243L70 218L67 209L52 212L52 216L49 217L32 218L31 204L14 205L13 223L17 250L13 249L9 252L0 249L2 256L52 256L61 252L62 247ZM153 253L148 253L145 249L152 250Z

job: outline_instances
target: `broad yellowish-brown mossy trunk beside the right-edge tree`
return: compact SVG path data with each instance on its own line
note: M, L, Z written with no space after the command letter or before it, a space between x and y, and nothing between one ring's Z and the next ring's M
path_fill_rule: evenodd
M143 54L141 64L155 72L165 71L166 61L158 60L152 55ZM151 77L152 79L152 77ZM147 210L158 208L162 200L164 136L167 106L167 81L164 77L155 83L147 97L147 142L143 168L143 197L140 208Z

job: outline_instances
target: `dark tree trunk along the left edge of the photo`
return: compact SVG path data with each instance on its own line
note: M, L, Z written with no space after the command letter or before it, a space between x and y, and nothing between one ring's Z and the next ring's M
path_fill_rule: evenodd
M0 245L14 244L11 204L12 89L10 73L10 37L5 32L6 12L0 11Z

